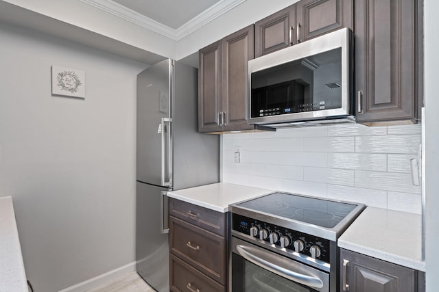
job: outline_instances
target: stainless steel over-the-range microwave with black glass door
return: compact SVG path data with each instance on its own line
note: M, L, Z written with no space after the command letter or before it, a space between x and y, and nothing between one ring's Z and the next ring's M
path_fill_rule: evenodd
M250 124L355 121L351 35L339 29L250 60Z

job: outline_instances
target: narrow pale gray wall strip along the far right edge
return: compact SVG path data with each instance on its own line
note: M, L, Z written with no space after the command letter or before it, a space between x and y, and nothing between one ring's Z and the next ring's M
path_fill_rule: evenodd
M425 0L425 168L426 168L426 241L427 292L439 287L439 1Z

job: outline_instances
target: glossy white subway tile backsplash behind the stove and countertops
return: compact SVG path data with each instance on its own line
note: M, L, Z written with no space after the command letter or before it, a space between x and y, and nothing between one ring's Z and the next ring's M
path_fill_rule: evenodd
M420 124L226 134L222 181L420 214L410 173L419 144Z

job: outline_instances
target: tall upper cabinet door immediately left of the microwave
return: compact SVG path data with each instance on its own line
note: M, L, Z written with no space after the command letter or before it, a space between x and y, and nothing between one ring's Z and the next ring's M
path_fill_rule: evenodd
M223 131L254 129L248 124L248 61L253 59L254 26L250 25L222 40Z

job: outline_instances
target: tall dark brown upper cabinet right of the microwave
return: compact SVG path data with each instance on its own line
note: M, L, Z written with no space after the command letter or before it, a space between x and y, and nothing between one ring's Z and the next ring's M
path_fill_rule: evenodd
M357 122L418 118L423 96L419 2L355 1Z

